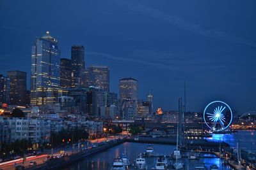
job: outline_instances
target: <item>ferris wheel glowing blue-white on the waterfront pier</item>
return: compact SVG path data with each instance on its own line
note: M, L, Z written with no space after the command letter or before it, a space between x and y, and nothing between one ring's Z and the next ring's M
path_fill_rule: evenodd
M204 110L204 122L211 131L223 131L232 122L233 113L223 101L213 101Z

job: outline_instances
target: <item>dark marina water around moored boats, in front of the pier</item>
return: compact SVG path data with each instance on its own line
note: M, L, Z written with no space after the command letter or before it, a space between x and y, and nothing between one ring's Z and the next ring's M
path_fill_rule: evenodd
M69 167L66 167L65 170L79 170L79 169L88 169L88 170L109 170L113 164L113 160L116 157L119 157L120 154L124 153L126 150L127 155L131 162L134 162L134 159L138 156L139 153L143 153L145 151L147 144L143 143L124 143L122 145L115 146L114 148L110 148L104 152L97 153L92 157L86 157L80 162L76 162ZM170 155L173 152L175 146L173 145L156 145L154 144L154 150L156 153L161 155ZM207 154L206 154L207 155ZM206 156L205 155L205 156ZM211 157L209 157L211 156ZM209 167L212 164L216 164L219 166L220 159L218 157L212 157L212 155L208 155L209 158L199 159L199 160L185 160L186 169L194 169L196 164L205 163L205 166ZM148 169L152 169L152 167L156 164L156 158L147 158ZM168 159L170 163L170 160ZM229 169L228 167L225 169Z

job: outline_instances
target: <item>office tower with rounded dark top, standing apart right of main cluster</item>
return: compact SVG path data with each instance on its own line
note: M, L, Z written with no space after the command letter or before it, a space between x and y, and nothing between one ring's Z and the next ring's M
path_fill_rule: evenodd
M119 80L120 100L132 99L138 101L138 80L134 78L122 78Z

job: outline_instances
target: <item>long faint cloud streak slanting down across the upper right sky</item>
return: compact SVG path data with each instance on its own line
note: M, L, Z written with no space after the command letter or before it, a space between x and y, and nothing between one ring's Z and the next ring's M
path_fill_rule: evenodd
M163 11L159 11L159 10L156 10L153 8L148 8L147 6L143 6L142 4L131 3L126 0L125 1L116 0L116 3L125 5L134 11L138 11L138 12L142 13L143 15L147 15L149 17L156 18L158 20L163 20L164 22L168 22L172 25L175 25L175 27L179 27L180 29L191 31L200 36L205 36L208 38L220 39L220 40L224 40L224 41L230 41L232 43L239 43L242 45L256 47L255 42L248 41L248 40L242 39L242 38L238 38L236 36L231 36L225 32L214 31L211 29L204 29L203 27L201 27L198 24L194 24L192 22L182 20L182 18L179 18L175 15L169 15L167 13L164 13Z

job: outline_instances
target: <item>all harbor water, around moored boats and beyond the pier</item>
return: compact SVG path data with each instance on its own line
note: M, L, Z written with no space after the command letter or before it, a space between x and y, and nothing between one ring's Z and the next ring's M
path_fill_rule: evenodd
M242 150L247 150L249 152L255 152L255 143L256 143L256 132L255 131L238 131L234 134L213 134L212 138L205 138L211 141L225 141L230 144L232 147L236 147L237 142L240 143ZM68 167L65 167L65 170L109 170L113 165L113 160L117 157L120 157L122 153L126 152L131 162L134 162L134 159L138 156L138 154L145 152L145 148L147 144L145 143L123 143L122 145L115 146L113 148L109 148L104 152L97 153L90 157L85 157L79 162L71 164ZM159 155L170 156L170 154L175 149L174 145L156 145L154 144L154 151ZM201 153L201 157L203 153ZM148 169L152 169L152 167L156 164L156 157L148 157L146 158ZM175 160L173 160L175 161ZM170 164L170 159L168 158L168 162ZM214 155L205 155L204 158L200 158L198 160L188 160L188 158L184 159L185 169L194 169L194 167L198 164L202 164L204 162L207 169L212 164L216 164L220 166L220 159L218 157L214 157ZM62 168L63 169L63 168ZM228 166L223 166L221 169L232 169Z

